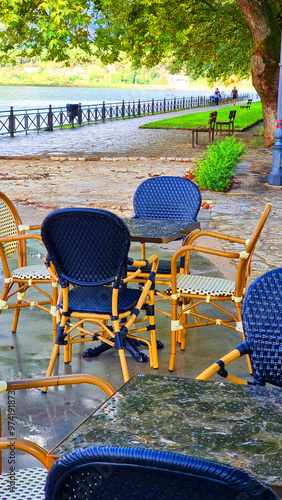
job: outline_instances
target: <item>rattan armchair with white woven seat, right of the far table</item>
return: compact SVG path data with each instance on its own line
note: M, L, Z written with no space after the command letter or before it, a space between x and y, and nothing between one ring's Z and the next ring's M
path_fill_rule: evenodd
M170 371L174 370L177 341L181 344L181 350L184 351L186 349L187 331L191 328L221 325L239 331L242 340L245 340L242 326L242 304L247 290L247 280L251 272L253 253L270 211L271 204L268 203L248 239L212 231L199 231L197 234L188 235L184 246L173 255L171 260ZM199 239L203 236L210 238L210 244L206 247L199 245ZM235 243L236 249L235 251L217 250L213 248L213 239ZM237 250L239 245L242 248L241 251ZM236 280L203 276L201 272L194 269L192 274L190 266L193 262L194 252L207 257L209 255L219 257L219 269L222 258L232 260L237 265ZM177 259L180 256L185 257L185 264L184 273L178 275ZM233 307L234 312L226 307L227 303L230 304L230 302L235 306ZM212 307L207 309L207 304Z

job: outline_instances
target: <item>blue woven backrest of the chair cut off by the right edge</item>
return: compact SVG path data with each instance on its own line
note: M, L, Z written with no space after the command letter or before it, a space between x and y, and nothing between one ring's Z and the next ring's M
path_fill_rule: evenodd
M255 381L282 387L282 269L250 286L242 315Z

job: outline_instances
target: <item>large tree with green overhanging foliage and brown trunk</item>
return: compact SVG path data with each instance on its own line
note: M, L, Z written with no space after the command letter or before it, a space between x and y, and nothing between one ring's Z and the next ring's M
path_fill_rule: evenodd
M2 61L42 56L68 61L69 49L104 62L121 51L136 66L227 80L252 74L264 113L265 144L276 121L279 0L1 0ZM81 53L81 52L80 52Z

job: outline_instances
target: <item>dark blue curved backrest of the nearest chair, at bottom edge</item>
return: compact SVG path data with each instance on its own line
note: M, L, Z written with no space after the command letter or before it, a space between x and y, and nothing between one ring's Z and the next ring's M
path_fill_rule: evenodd
M48 473L46 500L277 500L240 469L184 455L138 448L81 448Z

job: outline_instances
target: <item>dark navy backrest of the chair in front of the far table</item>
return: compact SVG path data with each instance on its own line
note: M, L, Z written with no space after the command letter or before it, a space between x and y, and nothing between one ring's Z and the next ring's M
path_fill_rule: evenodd
M126 275L130 233L106 210L66 208L43 221L41 235L59 278L84 286Z

